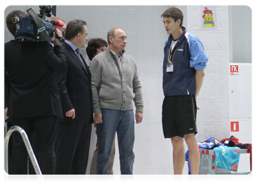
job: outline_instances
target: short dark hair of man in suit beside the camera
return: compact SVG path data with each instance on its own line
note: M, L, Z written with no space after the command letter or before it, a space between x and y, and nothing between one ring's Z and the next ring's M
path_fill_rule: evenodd
M76 37L78 33L84 34L84 25L86 26L86 22L81 19L73 19L70 22L68 22L65 39L71 40L74 37Z

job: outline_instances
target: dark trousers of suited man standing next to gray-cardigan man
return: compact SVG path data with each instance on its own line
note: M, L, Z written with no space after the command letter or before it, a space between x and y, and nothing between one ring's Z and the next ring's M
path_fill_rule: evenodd
M58 122L56 181L84 181L91 139L91 122Z

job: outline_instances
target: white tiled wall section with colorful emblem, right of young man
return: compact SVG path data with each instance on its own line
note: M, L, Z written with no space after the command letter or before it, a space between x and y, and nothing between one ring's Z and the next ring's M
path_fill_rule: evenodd
M228 5L188 5L188 7L188 17L193 20L188 22L187 30L199 37L209 56L200 90L202 98L197 98L202 99L202 108L198 111L202 120L197 115L199 133L196 138L197 141L211 136L217 139L229 138ZM212 10L214 27L203 26L202 16L205 7ZM197 21L199 27L195 27L195 23L191 25L193 21ZM203 170L200 170L199 174L200 179L205 179L202 177L205 174ZM231 177L222 177L220 180L231 180Z

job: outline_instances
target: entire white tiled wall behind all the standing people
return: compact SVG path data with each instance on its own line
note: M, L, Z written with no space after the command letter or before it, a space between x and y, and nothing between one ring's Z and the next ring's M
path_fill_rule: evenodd
M145 104L143 122L135 125L134 177L137 181L173 179L171 141L164 139L162 132L163 44L168 39L168 34L160 17L163 11L172 6L182 9L186 31L202 40L206 54L209 55L202 90L197 97L197 106L200 107L197 112L197 141L211 136L218 139L228 137L228 5L57 5L57 16L66 22L71 19L87 21L89 38L102 37L107 40L107 31L112 27L123 28L126 32L126 53L133 56L137 62ZM213 12L214 27L203 27L205 6ZM4 17L11 10L24 10L25 7L26 5L4 5ZM36 7L36 11L39 11L39 8ZM245 8L243 11L246 13L248 10ZM237 13L239 15L240 11ZM240 23L243 20L238 16L236 21ZM251 25L246 22L246 26ZM237 33L233 34L237 36L240 33L237 30ZM4 43L10 39L11 35L4 24ZM253 41L246 39L250 40ZM89 160L96 147L94 127L90 147ZM188 149L186 145L185 149ZM90 162L91 160L85 180L88 180ZM114 176L115 180L120 180L117 140ZM188 167L185 163L183 180L187 179Z

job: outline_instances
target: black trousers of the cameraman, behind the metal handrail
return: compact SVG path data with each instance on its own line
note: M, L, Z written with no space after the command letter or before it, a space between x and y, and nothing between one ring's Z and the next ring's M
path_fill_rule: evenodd
M13 125L19 125L25 130L29 139L33 131L38 140L38 164L44 179L54 181L56 156L54 145L56 141L57 117L54 115L35 118L13 118ZM13 180L27 179L28 152L18 132L13 132L13 154L11 160Z

